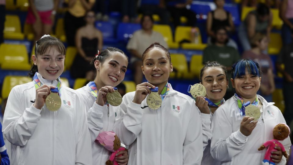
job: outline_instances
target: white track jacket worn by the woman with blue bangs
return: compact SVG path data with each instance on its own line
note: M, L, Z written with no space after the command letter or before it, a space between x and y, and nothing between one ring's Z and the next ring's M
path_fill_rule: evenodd
M257 97L262 103L261 116L248 137L239 130L244 116L240 115L235 96L216 110L212 121L211 154L221 164L261 165L266 149L258 151L258 148L264 142L273 139L273 128L278 123L286 123L281 111L273 105L274 103L268 103L259 95ZM290 138L280 142L289 154ZM279 164L286 164L284 156Z

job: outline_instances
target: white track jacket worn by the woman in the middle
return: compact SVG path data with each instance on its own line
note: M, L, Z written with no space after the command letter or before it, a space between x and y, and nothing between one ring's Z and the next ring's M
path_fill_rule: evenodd
M125 94L114 132L129 145L128 165L201 164L202 126L194 100L172 89L157 110L132 102L135 92ZM143 108L141 108L143 107Z

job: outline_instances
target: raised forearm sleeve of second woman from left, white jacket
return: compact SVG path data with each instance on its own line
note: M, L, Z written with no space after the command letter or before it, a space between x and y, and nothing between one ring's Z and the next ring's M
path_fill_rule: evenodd
M95 142L100 130L103 129L103 106L100 106L94 102L93 106L87 112L87 119L89 125L89 132L91 134L92 143Z

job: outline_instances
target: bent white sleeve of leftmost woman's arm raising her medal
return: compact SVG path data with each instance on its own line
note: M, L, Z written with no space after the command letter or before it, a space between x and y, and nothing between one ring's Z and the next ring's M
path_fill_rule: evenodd
M3 119L3 133L13 145L24 146L34 134L41 109L24 107L25 98L13 88L8 96Z

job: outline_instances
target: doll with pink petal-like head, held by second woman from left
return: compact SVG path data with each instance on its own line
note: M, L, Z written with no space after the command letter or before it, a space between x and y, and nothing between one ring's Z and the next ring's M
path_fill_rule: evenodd
M115 155L119 151L126 150L124 147L121 147L121 142L118 136L114 132L104 131L99 133L99 136L96 138L96 141L103 145L107 150L113 152L110 155L109 160L107 160L106 165L118 165L118 163L115 161Z

